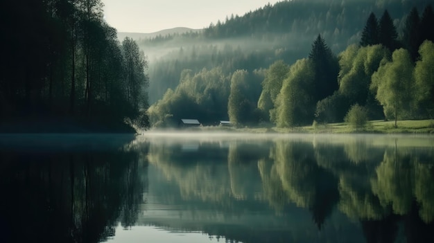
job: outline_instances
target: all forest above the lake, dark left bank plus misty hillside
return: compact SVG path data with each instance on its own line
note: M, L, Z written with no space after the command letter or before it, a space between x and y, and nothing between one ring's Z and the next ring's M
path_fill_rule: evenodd
M119 40L101 0L9 1L0 131L432 118L433 16L429 0L280 1L198 31Z

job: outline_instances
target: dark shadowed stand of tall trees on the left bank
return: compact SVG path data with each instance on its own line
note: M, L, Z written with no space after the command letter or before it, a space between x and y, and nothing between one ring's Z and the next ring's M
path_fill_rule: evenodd
M8 1L0 18L3 121L148 125L148 62L132 39L119 43L101 0Z

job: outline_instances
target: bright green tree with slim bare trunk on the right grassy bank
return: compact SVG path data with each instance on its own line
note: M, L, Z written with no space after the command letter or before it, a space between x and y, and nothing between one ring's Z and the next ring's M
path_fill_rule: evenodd
M392 62L383 62L372 75L371 87L376 89L376 99L383 106L385 115L394 117L397 127L398 117L410 112L415 100L410 53L402 48L394 51Z

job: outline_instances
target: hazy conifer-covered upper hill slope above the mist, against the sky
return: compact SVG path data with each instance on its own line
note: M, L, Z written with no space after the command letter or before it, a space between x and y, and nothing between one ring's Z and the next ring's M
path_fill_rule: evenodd
M428 1L340 1L295 0L280 1L250 11L243 16L231 15L225 21L211 23L203 34L211 38L269 35L270 33L297 33L316 35L321 33L333 44L356 35L359 20L369 12L377 14L388 9L392 15L402 17L406 10L417 6L423 8ZM339 39L345 40L344 42ZM342 46L345 47L345 46ZM334 46L333 46L334 48Z

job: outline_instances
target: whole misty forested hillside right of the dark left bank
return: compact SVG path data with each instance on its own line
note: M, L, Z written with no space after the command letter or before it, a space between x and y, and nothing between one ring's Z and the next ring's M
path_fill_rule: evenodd
M296 127L353 108L370 120L432 118L433 17L430 1L281 1L141 39L150 124Z

